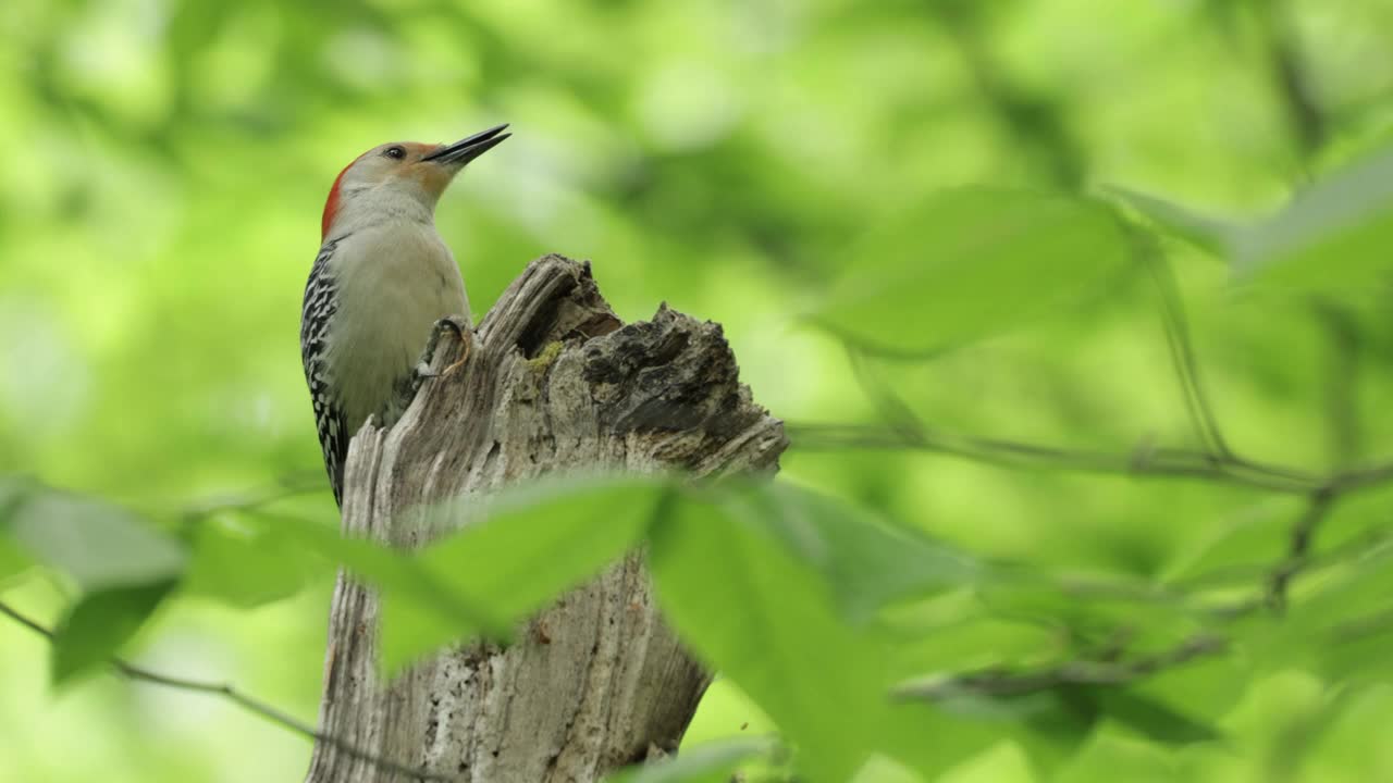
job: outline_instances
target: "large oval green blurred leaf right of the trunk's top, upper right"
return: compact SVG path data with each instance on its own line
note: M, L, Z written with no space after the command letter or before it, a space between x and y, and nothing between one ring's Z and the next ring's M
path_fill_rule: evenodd
M956 188L868 235L809 319L869 352L928 355L1060 311L1130 256L1099 201Z

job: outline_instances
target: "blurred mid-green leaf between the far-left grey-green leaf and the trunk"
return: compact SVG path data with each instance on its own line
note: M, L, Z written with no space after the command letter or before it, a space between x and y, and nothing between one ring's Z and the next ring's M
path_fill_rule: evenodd
M181 589L241 607L295 595L325 564L273 525L238 529L209 521L198 528L192 546Z

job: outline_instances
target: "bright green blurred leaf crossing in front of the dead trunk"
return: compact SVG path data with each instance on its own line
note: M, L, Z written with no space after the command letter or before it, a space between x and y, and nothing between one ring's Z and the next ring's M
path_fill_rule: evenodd
M453 527L461 515L471 524L414 563L440 589L513 624L638 543L663 492L663 481L632 476L531 483L488 500L482 521L471 509L476 499L442 504L425 511L422 524ZM475 631L443 621L435 606L387 591L382 649L389 670Z

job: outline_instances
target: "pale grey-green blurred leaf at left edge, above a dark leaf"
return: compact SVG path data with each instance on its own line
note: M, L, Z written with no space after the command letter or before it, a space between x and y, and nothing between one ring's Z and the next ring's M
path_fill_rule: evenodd
M15 509L10 525L25 552L89 592L174 578L187 560L177 541L95 497L36 489Z

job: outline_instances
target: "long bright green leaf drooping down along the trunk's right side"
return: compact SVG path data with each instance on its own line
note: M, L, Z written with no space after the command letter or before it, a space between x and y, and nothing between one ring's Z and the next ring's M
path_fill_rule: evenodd
M880 649L818 573L729 507L680 503L652 534L664 616L798 748L809 780L847 780L880 738Z

